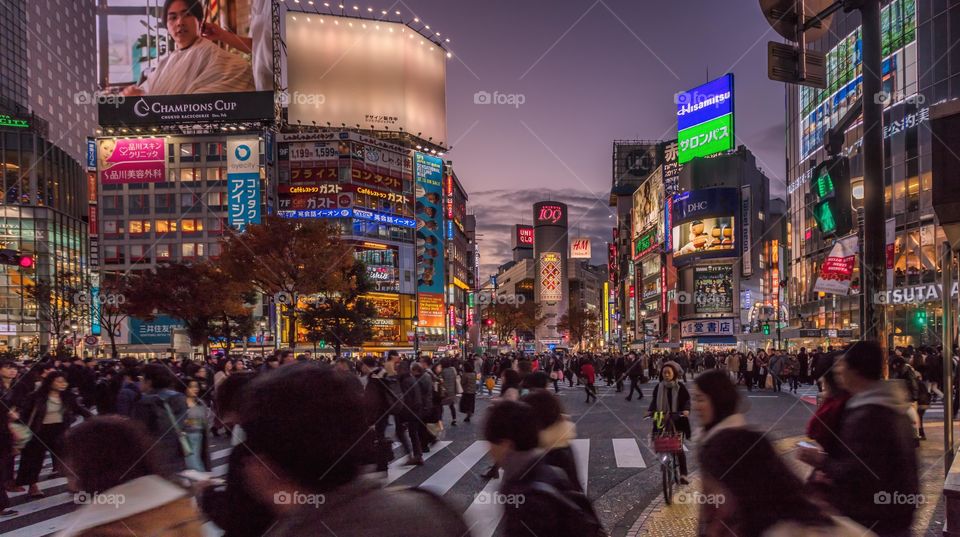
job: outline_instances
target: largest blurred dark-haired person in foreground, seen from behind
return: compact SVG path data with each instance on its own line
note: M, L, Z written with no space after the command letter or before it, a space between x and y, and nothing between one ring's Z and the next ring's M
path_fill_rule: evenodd
M250 388L244 429L256 456L247 459L244 473L250 490L277 516L267 537L469 534L438 496L384 489L360 475L357 446L367 425L355 377L297 364Z

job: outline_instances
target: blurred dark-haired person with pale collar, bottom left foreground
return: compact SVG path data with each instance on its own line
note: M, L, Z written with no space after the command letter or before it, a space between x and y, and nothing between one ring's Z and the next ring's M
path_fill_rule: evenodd
M161 475L143 426L99 416L65 440L68 488L79 510L57 537L201 537L202 519L187 489Z

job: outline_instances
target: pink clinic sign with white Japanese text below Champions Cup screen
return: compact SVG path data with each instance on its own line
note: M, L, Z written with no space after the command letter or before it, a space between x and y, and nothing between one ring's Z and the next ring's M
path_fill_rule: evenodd
M97 151L100 183L161 183L166 176L166 150L163 138L102 138Z

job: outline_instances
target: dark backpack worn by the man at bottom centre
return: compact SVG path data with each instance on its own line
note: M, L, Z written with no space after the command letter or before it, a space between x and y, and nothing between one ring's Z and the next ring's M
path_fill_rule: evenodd
M538 465L538 471L530 486L533 490L549 496L557 504L554 511L558 526L563 528L560 537L607 537L603 524L593 504L583 492L563 486L567 481L563 471L547 464ZM569 484L569 483L568 483ZM558 487L562 487L561 490Z

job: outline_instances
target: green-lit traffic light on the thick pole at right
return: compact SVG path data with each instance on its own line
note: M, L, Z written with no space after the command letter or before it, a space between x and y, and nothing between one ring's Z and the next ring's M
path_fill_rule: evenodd
M846 157L833 157L813 169L810 180L810 210L824 237L842 237L853 227L850 205L850 164Z

